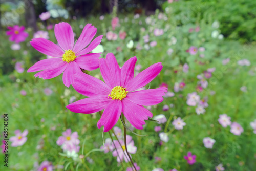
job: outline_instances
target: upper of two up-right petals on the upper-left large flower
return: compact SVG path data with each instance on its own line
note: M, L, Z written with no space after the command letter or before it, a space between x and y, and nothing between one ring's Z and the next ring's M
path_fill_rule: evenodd
M77 53L83 48L87 47L87 45L90 44L93 37L96 35L96 32L97 28L94 28L92 24L87 24L86 26L84 26L82 33L74 46L73 51Z

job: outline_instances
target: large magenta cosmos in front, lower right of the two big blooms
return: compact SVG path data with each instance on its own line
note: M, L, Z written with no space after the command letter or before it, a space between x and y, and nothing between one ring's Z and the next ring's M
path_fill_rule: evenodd
M150 83L163 68L161 62L155 63L134 77L136 61L136 56L132 57L120 69L115 56L108 53L106 59L99 61L105 83L87 74L75 74L74 89L90 98L69 104L67 108L72 112L84 114L105 109L97 123L98 128L104 126L104 132L112 129L122 112L136 129L143 129L144 120L153 117L143 105L156 105L162 102L162 96L167 92L167 88L135 91Z

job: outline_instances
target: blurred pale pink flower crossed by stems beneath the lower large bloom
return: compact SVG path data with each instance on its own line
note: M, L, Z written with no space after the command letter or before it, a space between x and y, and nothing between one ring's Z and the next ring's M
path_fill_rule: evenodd
M120 142L120 144L119 144ZM121 162L124 161L127 163L130 161L126 151L125 151L125 145L124 145L124 141L123 140L119 140L119 142L117 140L114 140L114 144L116 146L116 149L112 152L112 155L114 157L117 157L117 162ZM126 144L127 144L127 151L130 153L130 154L135 154L136 151L137 151L137 147L134 146L134 141L133 141L133 138L132 136L130 135L126 135ZM124 151L124 152L123 152ZM119 157L118 157L119 155Z

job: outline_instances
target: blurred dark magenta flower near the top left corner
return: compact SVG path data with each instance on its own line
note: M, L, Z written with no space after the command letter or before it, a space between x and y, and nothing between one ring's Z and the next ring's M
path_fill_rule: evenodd
M9 41L14 41L16 44L25 41L26 38L29 36L29 34L24 31L24 26L7 26L7 29L9 29L9 31L6 31L6 35L10 36Z

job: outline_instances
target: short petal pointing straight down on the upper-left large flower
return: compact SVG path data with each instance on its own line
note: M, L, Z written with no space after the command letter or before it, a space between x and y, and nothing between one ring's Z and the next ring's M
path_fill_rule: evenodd
M79 72L81 73L82 71L77 63L75 61L69 62L62 77L64 85L70 87L74 80L74 74Z

